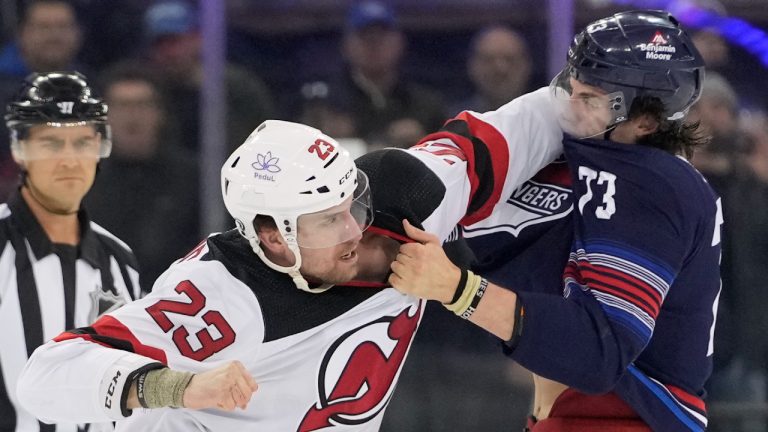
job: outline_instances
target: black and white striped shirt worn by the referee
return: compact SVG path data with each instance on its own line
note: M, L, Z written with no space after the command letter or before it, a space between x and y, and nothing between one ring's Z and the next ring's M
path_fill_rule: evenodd
M0 432L101 429L47 425L16 400L16 381L35 348L139 294L131 249L84 211L78 218L80 245L53 244L18 191L0 204Z

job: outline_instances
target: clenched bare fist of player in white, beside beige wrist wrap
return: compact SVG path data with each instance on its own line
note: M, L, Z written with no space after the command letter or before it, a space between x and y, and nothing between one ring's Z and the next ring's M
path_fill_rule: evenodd
M224 411L245 409L257 388L258 384L245 366L233 361L192 377L184 390L184 407Z

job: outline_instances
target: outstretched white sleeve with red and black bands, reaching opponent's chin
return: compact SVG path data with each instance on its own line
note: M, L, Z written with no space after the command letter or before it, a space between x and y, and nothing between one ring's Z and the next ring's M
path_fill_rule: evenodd
M551 97L545 87L496 111L464 111L448 121L442 131L428 135L409 149L446 184L446 199L451 201L447 208L459 207L462 225L477 224L503 213L506 199L562 154L563 132ZM442 160L443 166L437 160ZM456 170L457 164L463 169ZM461 194L456 196L464 189L469 193L469 202L462 201ZM451 217L455 214L449 213Z

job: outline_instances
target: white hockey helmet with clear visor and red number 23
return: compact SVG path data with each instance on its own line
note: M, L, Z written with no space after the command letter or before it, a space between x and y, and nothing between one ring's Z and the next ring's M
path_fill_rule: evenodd
M256 255L309 292L330 285L309 288L299 273L299 246L327 248L349 241L368 228L373 215L368 177L349 152L315 128L286 121L265 121L229 156L221 168L221 192ZM324 215L345 203L351 217ZM266 257L253 226L257 215L275 220L296 257L294 265L280 266Z

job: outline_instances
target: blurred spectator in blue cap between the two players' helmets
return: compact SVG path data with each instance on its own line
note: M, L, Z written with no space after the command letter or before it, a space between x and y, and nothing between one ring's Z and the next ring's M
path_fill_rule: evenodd
M440 95L402 76L405 44L386 3L363 0L348 10L342 41L348 71L340 88L360 137L373 147L413 145L447 117Z

